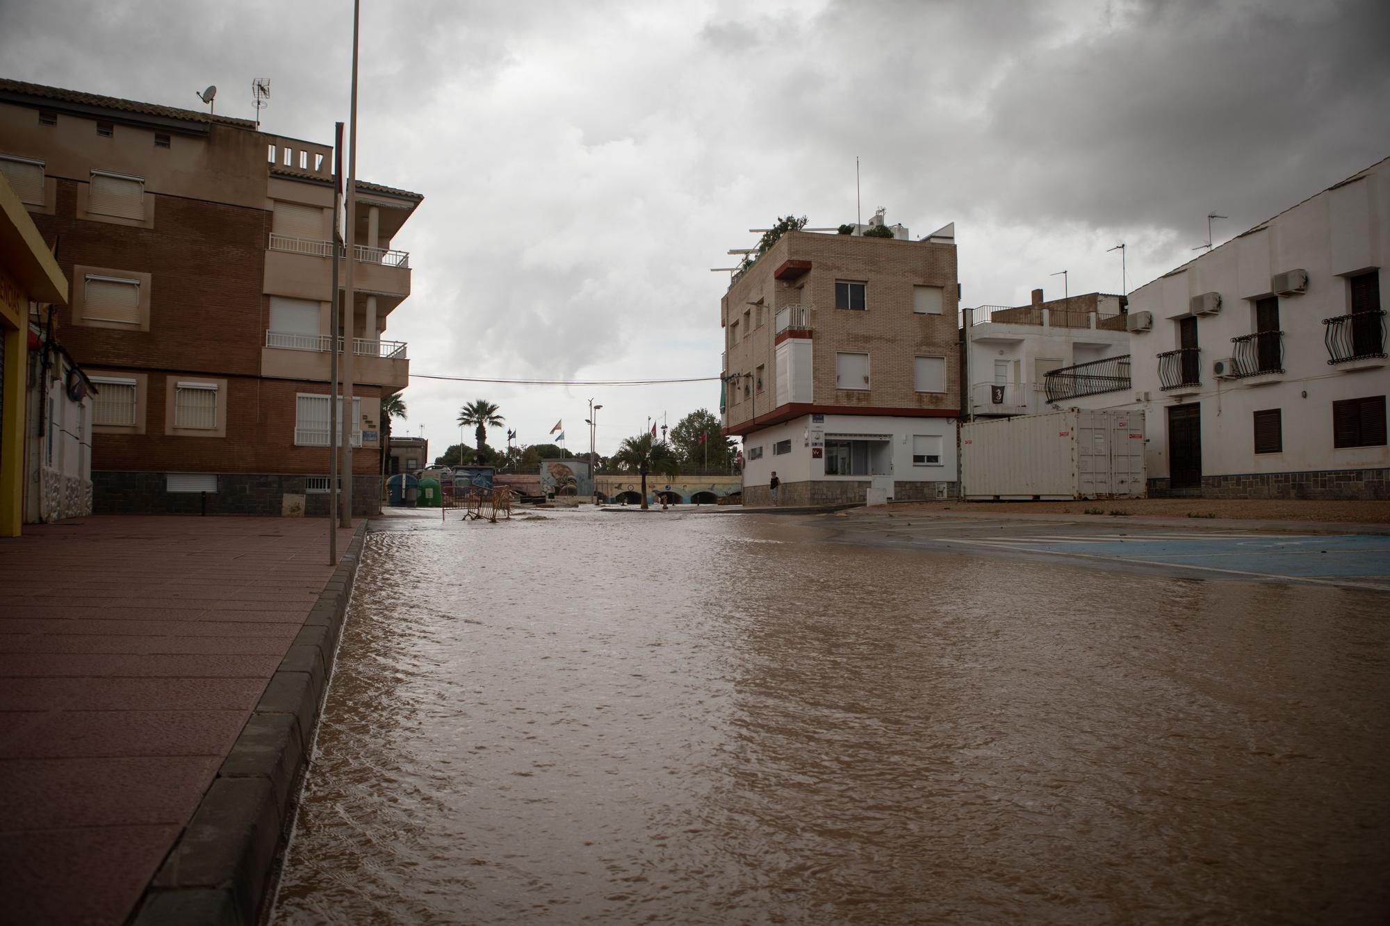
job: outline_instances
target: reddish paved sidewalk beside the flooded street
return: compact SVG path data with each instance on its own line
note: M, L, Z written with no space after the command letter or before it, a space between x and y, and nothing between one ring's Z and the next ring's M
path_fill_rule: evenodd
M0 541L0 920L126 919L332 574L325 530L90 517Z

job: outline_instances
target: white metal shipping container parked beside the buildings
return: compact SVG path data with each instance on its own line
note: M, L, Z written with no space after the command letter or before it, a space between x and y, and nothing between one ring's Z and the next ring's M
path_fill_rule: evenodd
M967 499L1144 498L1144 413L1069 409L960 425Z

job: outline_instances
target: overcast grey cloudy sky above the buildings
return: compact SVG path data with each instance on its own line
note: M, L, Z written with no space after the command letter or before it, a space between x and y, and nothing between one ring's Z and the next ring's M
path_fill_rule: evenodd
M75 24L81 24L76 28ZM3 76L252 115L331 142L350 1L0 0ZM396 238L413 295L386 336L417 374L719 374L730 247L778 214L956 222L965 304L1133 291L1390 154L1390 3L459 3L364 0L359 174L425 196ZM417 380L400 431L457 439L502 406L599 450L719 384ZM503 442L503 432L491 435ZM471 435L467 438L471 442Z

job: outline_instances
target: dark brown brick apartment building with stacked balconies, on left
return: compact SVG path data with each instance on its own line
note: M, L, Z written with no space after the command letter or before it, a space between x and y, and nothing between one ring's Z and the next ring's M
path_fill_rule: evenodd
M0 81L0 171L72 285L64 343L99 389L95 509L327 510L332 147L247 120ZM379 509L392 238L418 193L364 184L353 229L353 509ZM342 274L339 274L339 279ZM341 349L341 343L339 343Z

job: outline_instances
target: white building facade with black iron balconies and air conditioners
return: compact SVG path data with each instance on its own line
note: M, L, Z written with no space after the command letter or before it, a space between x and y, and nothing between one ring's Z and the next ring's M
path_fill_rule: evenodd
M1130 293L1151 495L1390 499L1387 164Z

